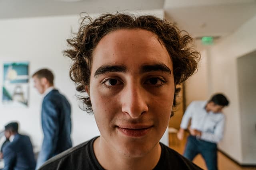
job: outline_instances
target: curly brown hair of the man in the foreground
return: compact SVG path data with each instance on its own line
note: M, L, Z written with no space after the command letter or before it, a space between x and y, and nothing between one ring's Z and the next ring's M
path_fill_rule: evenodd
M186 31L179 31L172 23L150 15L136 17L116 13L103 14L95 20L88 15L82 18L78 33L74 38L67 39L71 49L64 51L64 55L74 61L70 68L70 78L76 83L76 90L86 92L85 86L90 84L92 52L102 37L118 29L145 29L158 36L159 42L166 47L173 62L173 106L176 106L175 98L179 91L176 85L183 83L196 71L200 53L193 48L193 39ZM80 99L86 104L86 110L92 111L89 96L82 96Z

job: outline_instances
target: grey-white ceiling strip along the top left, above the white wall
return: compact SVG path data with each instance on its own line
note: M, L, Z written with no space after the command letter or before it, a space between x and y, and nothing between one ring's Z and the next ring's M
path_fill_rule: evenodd
M77 1L77 0L76 0ZM0 0L0 19L163 9L164 0Z

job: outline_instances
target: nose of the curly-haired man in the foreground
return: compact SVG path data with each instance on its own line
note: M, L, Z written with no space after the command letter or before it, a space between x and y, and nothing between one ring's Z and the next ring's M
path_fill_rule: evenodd
M144 89L137 84L130 84L122 94L122 112L132 118L138 118L148 111L147 95Z

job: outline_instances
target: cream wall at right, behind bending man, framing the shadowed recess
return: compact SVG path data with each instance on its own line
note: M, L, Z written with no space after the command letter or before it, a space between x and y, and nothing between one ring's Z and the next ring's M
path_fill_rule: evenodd
M236 59L256 49L256 16L242 25L232 35L211 49L212 93L224 92L230 99L230 106L224 109L227 122L225 135L219 148L240 164L255 164L256 157L250 161L242 155L242 133L240 98L238 93L238 73ZM252 134L251 134L252 135Z

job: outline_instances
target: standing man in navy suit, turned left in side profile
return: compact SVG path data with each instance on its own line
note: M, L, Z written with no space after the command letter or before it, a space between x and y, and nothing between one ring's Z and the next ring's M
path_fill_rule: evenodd
M44 96L42 102L42 129L44 140L36 169L46 160L72 147L71 108L68 100L54 89L54 76L48 69L41 69L32 75L34 87Z

